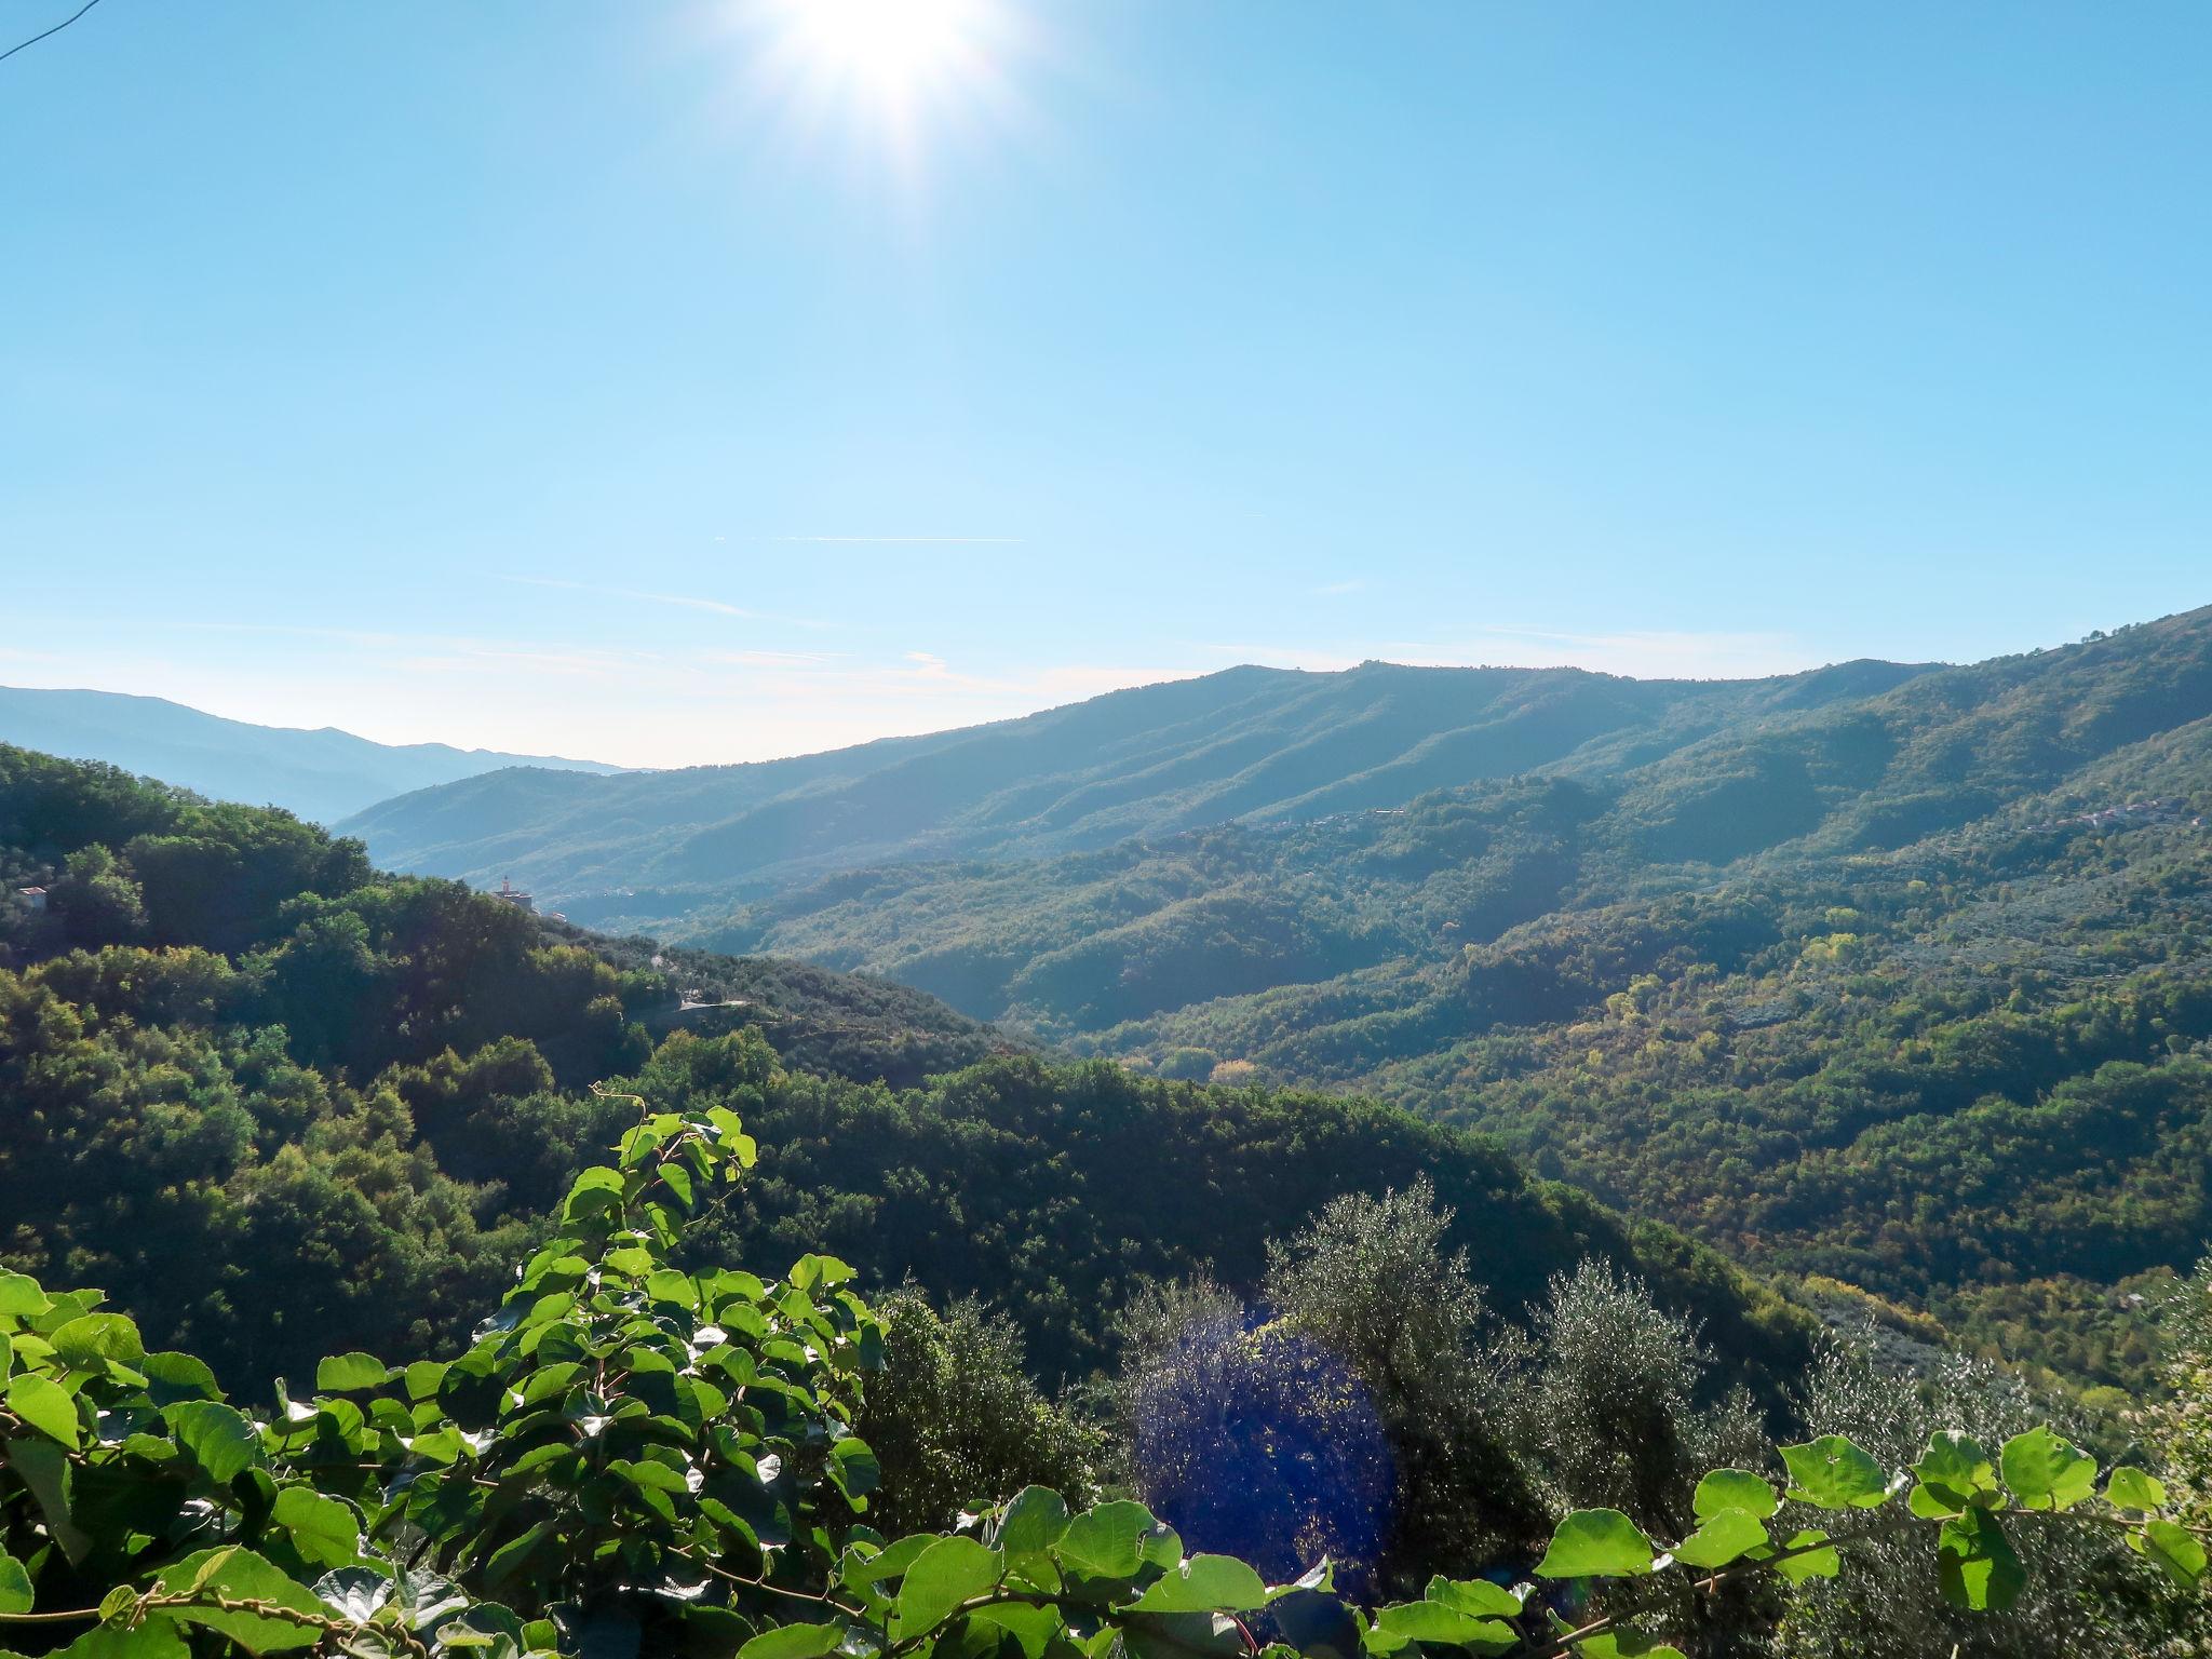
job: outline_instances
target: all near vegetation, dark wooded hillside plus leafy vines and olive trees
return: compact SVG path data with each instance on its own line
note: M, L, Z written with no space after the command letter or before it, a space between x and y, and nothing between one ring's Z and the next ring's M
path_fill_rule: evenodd
M2203 1637L2194 1303L2154 1413L2079 1413L1402 1106L1051 1062L22 750L0 863L46 900L0 933L29 1652Z

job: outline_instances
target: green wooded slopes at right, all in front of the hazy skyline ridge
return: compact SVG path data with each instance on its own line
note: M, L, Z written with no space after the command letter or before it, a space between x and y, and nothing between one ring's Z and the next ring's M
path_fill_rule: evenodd
M2199 611L1657 759L845 872L692 936L1170 1077L1380 1093L2137 1383L2141 1296L2212 1232L2208 814Z

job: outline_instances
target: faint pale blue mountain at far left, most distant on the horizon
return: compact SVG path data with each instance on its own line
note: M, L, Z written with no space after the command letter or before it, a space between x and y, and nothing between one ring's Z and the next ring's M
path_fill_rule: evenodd
M372 743L332 726L252 726L164 697L18 686L0 686L0 743L106 761L217 801L285 807L314 823L336 823L394 794L498 768L622 770L553 754Z

